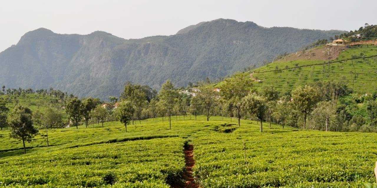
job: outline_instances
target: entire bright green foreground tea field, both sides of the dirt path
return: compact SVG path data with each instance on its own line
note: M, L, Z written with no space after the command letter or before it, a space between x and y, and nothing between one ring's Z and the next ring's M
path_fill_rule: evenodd
M3 131L0 186L170 187L183 182L187 141L194 146L193 173L203 188L343 188L375 181L375 133L267 123L261 133L254 121L241 120L238 127L234 118L191 118L172 117L171 130L166 118L137 122L127 133L118 122L49 130L51 147L40 130L27 143L26 155L22 143Z

